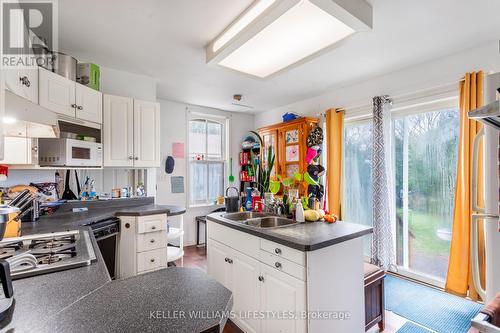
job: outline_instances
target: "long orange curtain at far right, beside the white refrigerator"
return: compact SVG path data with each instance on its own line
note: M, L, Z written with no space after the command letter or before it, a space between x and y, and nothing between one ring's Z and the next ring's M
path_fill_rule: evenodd
M482 125L470 120L467 113L484 103L483 72L467 73L460 82L460 137L457 165L457 184L455 193L455 208L453 214L453 234L450 250L450 262L446 278L446 291L460 296L469 296L478 300L471 273L471 163L472 142ZM482 151L479 152L478 163L478 201L482 205L483 172ZM480 224L479 234L479 267L481 280L484 286L485 256L484 256L484 228Z

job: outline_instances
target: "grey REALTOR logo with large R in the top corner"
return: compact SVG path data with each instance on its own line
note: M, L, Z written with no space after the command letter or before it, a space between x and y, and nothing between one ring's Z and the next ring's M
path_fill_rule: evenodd
M43 66L43 55L57 49L55 0L0 0L2 66Z

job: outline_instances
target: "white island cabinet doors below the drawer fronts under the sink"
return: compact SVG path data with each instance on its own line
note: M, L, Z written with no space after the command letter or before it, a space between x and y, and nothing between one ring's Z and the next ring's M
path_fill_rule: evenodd
M244 332L307 332L305 281L210 238L208 273L232 291L233 320Z

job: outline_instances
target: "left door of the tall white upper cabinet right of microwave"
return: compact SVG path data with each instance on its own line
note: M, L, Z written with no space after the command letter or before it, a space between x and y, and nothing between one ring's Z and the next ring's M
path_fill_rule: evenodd
M104 95L104 166L134 166L134 102Z

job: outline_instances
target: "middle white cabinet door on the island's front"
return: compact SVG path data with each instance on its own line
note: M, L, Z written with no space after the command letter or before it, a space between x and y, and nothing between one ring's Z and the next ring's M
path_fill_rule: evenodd
M260 293L258 292L261 285L259 281L260 263L236 251L233 251L230 259L233 311L237 316L234 320L238 327L246 333L260 333L261 320L248 316L248 313L261 308Z

